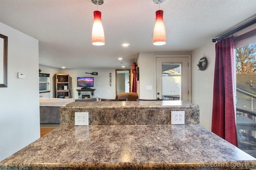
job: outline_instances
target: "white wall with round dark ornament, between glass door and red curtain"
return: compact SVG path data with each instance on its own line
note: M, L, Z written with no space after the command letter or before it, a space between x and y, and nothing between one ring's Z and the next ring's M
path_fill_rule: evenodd
M207 58L206 70L198 70L198 61ZM192 51L192 102L200 107L200 124L211 130L212 126L212 100L215 66L215 43L208 44Z

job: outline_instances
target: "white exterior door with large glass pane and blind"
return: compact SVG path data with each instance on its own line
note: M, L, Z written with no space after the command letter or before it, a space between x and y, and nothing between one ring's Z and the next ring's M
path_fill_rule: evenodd
M190 55L157 55L156 98L191 102Z

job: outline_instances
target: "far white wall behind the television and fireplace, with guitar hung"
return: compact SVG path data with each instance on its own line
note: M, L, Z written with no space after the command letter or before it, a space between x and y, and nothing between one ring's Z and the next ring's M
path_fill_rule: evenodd
M98 72L97 76L86 74L85 72ZM109 85L109 73L112 73L112 86ZM116 98L116 68L93 68L93 69L60 69L60 73L69 74L70 91L72 98L78 98L77 77L94 77L94 96L106 99Z

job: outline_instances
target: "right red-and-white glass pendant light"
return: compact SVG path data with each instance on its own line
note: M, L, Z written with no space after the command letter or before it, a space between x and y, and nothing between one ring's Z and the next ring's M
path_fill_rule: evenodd
M155 4L159 4L159 10L156 11L156 22L153 32L153 44L164 45L166 44L166 31L164 26L163 14L164 11L160 10L160 4L165 0L153 0Z

